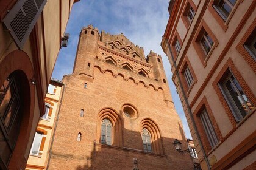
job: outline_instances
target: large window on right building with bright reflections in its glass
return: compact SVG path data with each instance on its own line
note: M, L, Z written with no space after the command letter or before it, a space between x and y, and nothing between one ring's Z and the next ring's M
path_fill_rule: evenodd
M232 73L218 85L237 122L255 108Z

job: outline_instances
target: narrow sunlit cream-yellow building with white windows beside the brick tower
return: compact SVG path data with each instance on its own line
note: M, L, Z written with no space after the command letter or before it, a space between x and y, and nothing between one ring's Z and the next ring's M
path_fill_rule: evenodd
M46 112L40 118L37 126L37 136L34 137L34 142L27 161L27 170L46 169L49 150L52 142L52 135L59 113L59 103L61 101L63 84L60 81L52 80L48 87L48 93L45 97Z

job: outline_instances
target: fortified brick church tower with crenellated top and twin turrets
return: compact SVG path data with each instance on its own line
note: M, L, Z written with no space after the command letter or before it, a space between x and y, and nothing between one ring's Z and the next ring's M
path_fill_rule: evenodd
M49 169L193 169L160 55L88 25L63 83Z

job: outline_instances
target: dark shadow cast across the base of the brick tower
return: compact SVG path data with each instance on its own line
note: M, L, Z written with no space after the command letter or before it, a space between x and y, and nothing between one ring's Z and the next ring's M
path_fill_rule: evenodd
M179 127L182 133L182 139L179 140L182 141L183 149L187 149L180 124ZM133 158L137 158L139 169L193 169L190 154L181 155L172 145L174 138L162 137L158 139L160 142L154 141L152 143L152 153L148 153L143 152L143 142L140 132L124 129L123 134L129 135L129 137L127 135L124 137L127 140L124 140L123 147L94 143L90 157L84 158L84 166L79 165L76 167L76 170L133 169L135 167ZM137 142L135 142L136 139ZM156 144L159 143L162 146L157 147L163 148L163 154L155 154Z

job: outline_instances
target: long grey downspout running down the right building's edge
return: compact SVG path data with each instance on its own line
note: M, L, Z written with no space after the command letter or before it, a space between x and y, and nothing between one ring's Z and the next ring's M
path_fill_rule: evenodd
M197 135L197 138L198 138L200 147L201 147L201 149L202 149L202 152L203 152L203 155L204 155L204 159L205 159L206 164L207 164L207 168L208 168L208 169L211 169L210 163L209 163L209 161L208 161L208 158L207 158L206 153L205 153L205 151L204 151L204 148L203 148L203 146L202 146L202 140L201 140L201 137L200 137L199 132L198 132L198 130L197 130L196 123L194 122L194 117L193 117L193 114L192 114L191 109L190 109L190 104L188 103L188 99L187 99L187 97L186 97L186 95L185 95L185 90L184 90L184 88L183 88L183 86L182 86L182 83L181 83L181 81L180 81L180 75L179 75L179 72L178 72L178 70L177 70L176 62L175 62L175 60L174 60L174 56L173 56L172 51L171 51L171 46L170 46L170 44L169 44L169 42L168 42L167 39L165 39L165 41L166 41L166 43L168 44L168 49L169 49L169 52L170 52L170 54L171 54L171 60L172 60L172 62L173 62L173 64L174 64L174 68L175 68L175 72L176 72L178 81L180 82L180 89L182 90L182 95L183 95L183 97L184 97L185 104L186 104L186 106L187 106L187 108L188 108L188 113L190 114L190 117L191 117L191 120L192 120L192 123L193 123L193 126L194 126L194 131L196 132L196 135Z

